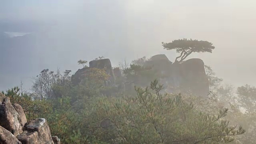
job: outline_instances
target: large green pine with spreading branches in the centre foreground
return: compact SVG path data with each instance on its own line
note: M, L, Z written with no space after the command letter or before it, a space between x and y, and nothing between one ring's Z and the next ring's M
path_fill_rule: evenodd
M101 136L102 128L94 129L92 135L117 144L217 144L231 142L232 135L245 132L222 120L227 109L210 115L194 110L180 95L162 95L160 90L162 85L154 81L145 89L136 88L135 97L99 100L93 109L97 115L94 120L105 118L111 124L105 133L107 137Z

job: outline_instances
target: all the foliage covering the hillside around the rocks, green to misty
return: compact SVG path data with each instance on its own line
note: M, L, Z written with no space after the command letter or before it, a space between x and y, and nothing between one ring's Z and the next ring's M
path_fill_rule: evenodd
M104 86L109 75L98 68L88 68L77 86L70 84L70 71L61 75L46 69L34 79L33 88L41 91L23 93L15 87L5 94L22 106L28 120L46 118L52 135L63 144L255 142L255 87L241 86L235 96L234 87L222 85L222 79L206 66L212 87L208 100L164 94L157 80L150 83L159 76L142 66L145 60L134 60L123 69L128 81L139 86L134 95L103 96L109 90ZM246 108L245 113L241 107Z

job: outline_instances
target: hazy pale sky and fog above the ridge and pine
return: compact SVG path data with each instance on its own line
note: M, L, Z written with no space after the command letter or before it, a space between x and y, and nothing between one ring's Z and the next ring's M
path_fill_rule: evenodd
M76 63L79 59L90 61L105 56L115 66L125 57L131 61L163 53L173 61L174 52L163 50L161 42L178 38L212 42L216 47L212 54L192 54L190 58L202 58L227 83L256 86L255 0L0 0L0 3L0 22L22 23L24 29L18 32L36 34L32 48L20 50L26 55L14 54L12 58L15 52L0 47L1 55L5 52L0 58L1 90L18 85L20 80L29 87L30 77L44 68L75 72L80 68ZM38 24L37 29L32 29L33 22ZM7 32L17 32L15 26L6 28ZM22 63L15 70L17 61Z

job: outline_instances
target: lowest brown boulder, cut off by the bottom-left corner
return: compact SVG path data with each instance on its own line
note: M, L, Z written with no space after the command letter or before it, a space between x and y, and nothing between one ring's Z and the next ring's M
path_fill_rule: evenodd
M0 126L0 144L22 144L11 132Z

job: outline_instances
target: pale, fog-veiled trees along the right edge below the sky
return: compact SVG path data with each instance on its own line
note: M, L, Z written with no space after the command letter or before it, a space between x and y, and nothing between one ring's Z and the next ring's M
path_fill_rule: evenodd
M210 72L208 74L210 74ZM214 78L210 80L219 79L214 73L212 76ZM195 102L198 103L197 106L201 106L199 108L200 110L207 110L208 112L215 112L217 108L228 107L230 110L226 119L232 120L232 122L230 122L231 124L242 125L246 130L244 134L234 137L236 139L234 141L235 144L254 144L256 138L255 92L256 88L248 84L240 86L235 90L232 84L221 84L217 82L211 87L212 97L209 101L200 102L200 100L192 100L192 97L190 97L188 101L193 101L193 104Z

